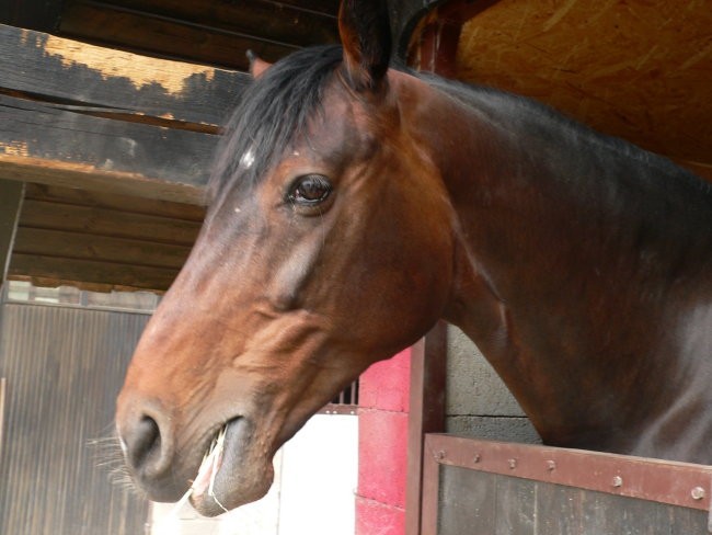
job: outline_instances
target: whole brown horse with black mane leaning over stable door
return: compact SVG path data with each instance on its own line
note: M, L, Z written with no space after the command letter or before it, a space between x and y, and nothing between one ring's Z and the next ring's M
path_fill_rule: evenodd
M388 68L384 2L245 91L214 201L118 399L137 482L222 512L439 318L548 444L712 460L712 194L529 100ZM358 12L361 10L361 12ZM207 491L208 479L211 491Z

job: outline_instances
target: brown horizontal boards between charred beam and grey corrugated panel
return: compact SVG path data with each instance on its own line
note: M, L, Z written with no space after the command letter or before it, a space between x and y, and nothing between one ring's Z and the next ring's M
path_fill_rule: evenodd
M28 184L9 275L84 289L168 289L200 229L198 206Z

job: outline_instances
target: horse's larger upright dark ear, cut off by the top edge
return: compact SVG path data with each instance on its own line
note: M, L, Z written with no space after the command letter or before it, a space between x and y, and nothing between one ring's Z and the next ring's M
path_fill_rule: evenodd
M391 56L386 0L343 0L338 34L344 46L346 80L356 91L376 91Z

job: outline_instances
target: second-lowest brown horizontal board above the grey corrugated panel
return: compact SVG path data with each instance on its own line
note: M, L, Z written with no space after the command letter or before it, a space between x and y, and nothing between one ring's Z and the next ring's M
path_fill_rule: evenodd
M120 264L117 270L123 265L136 265L174 271L183 266L190 252L190 246L26 227L18 228L13 250L14 254Z

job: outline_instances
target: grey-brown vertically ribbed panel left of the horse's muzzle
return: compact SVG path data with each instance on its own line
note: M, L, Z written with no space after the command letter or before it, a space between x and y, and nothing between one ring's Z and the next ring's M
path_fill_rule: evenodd
M7 377L0 533L136 535L148 502L110 481L92 440L113 430L115 398L146 315L2 306Z

